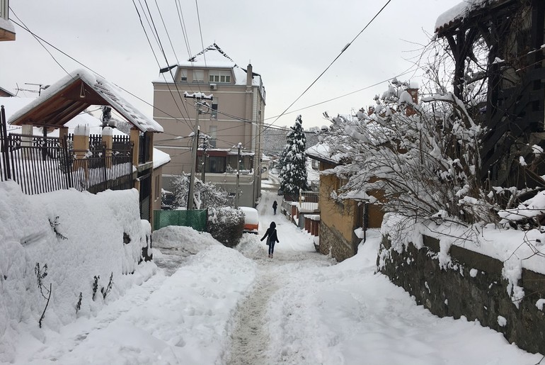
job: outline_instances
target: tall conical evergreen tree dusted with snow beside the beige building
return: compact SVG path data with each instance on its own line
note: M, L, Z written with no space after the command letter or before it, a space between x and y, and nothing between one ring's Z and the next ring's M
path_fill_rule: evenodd
M306 190L306 137L302 127L303 120L297 116L292 130L287 133L286 146L282 152L280 171L280 190L287 195L297 196L299 190Z

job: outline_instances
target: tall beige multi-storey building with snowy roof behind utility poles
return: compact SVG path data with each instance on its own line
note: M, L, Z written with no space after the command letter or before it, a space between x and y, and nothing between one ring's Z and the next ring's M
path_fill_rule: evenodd
M154 147L171 156L163 169L164 189L182 172L191 172L191 147L197 111L195 99L184 93L212 95L198 115L200 126L197 178L214 182L236 196L239 174L239 206L255 206L261 189L265 88L248 64L239 67L215 43L187 62L161 69L154 82L154 120L164 133ZM243 149L236 148L241 143ZM240 152L240 165L237 166ZM203 163L203 156L204 163Z

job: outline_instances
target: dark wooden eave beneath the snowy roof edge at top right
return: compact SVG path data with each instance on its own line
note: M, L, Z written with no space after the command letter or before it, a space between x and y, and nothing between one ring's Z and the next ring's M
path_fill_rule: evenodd
M439 28L435 29L435 33L437 34L437 37L440 38L448 35L454 35L461 29L471 28L472 26L482 26L492 18L497 18L498 16L509 16L511 13L513 13L513 9L517 9L519 6L519 0L497 0L488 6L483 6L474 11L470 11L454 21L449 21L449 23L443 24Z

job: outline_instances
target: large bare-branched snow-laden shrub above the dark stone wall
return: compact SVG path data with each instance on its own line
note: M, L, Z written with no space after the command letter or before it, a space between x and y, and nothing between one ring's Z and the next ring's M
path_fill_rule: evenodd
M494 197L478 177L480 125L452 93L417 105L409 88L394 79L369 113L330 118L328 145L346 157L325 173L348 181L333 196L381 191L388 212L493 220Z

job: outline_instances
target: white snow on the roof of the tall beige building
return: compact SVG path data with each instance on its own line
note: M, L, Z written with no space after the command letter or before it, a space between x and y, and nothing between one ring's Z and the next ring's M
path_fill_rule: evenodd
M231 57L229 57L216 43L206 47L204 50L194 55L189 60L180 62L178 67L190 69L232 69L235 85L246 85L246 69L239 67ZM154 82L172 83L174 70L171 66L161 69L161 78ZM262 84L259 74L252 74L252 85L260 86Z

